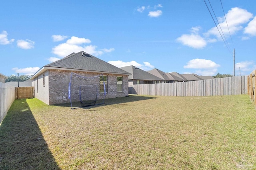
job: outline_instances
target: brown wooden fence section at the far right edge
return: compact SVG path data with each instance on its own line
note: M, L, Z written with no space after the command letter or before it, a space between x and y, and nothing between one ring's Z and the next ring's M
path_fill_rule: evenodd
M252 71L251 74L248 76L248 94L250 96L251 101L254 103L256 107L256 70Z

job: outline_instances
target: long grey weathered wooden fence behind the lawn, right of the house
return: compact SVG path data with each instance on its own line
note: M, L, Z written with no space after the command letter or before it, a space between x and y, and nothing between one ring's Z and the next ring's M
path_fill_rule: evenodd
M129 85L129 94L150 96L224 96L247 93L247 76L178 83Z

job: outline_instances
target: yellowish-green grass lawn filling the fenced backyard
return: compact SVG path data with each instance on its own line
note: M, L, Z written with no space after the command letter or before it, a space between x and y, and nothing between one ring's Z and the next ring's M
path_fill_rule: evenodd
M256 169L256 110L248 95L130 95L79 109L15 100L0 169Z

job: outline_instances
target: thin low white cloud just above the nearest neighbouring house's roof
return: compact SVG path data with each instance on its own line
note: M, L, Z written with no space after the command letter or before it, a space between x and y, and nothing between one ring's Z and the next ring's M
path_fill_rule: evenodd
M152 70L152 68L154 68L153 65L151 65L150 63L148 62L143 62L144 64L140 64L140 63L137 63L136 61L128 61L128 62L124 62L124 61L108 61L108 63L114 65L114 66L117 66L117 67L124 67L124 66L130 66L130 65L133 65L133 66L136 66L144 71L148 71L148 70Z

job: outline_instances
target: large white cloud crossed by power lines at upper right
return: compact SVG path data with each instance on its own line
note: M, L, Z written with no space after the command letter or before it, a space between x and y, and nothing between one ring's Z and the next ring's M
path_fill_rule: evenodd
M243 29L242 24L248 22L252 18L252 16L253 16L252 13L248 12L247 10L235 7L229 10L228 13L226 14L226 20L227 20L228 26L227 26L225 17L223 16L218 18L218 21L220 23L218 27L220 26L224 35L227 35L226 37L228 37L229 31L231 35L235 34L237 31L240 31L241 29ZM219 30L220 30L220 27L219 27ZM214 35L219 39L221 37L216 27L212 27L210 30L204 33L204 35L206 37L210 35Z

